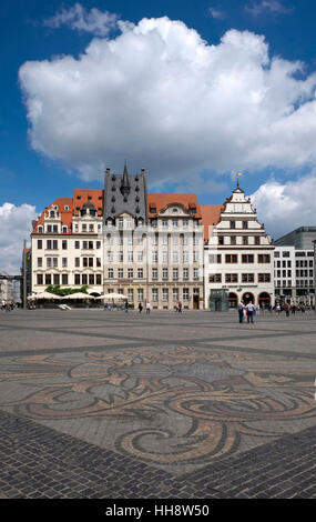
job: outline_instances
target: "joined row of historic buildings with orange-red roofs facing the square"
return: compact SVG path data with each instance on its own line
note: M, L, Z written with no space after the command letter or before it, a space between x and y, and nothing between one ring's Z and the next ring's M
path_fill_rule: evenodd
M88 287L160 310L225 310L274 294L274 245L239 187L223 205L200 205L195 194L149 194L144 169L106 169L104 190L57 199L31 239L33 293Z

